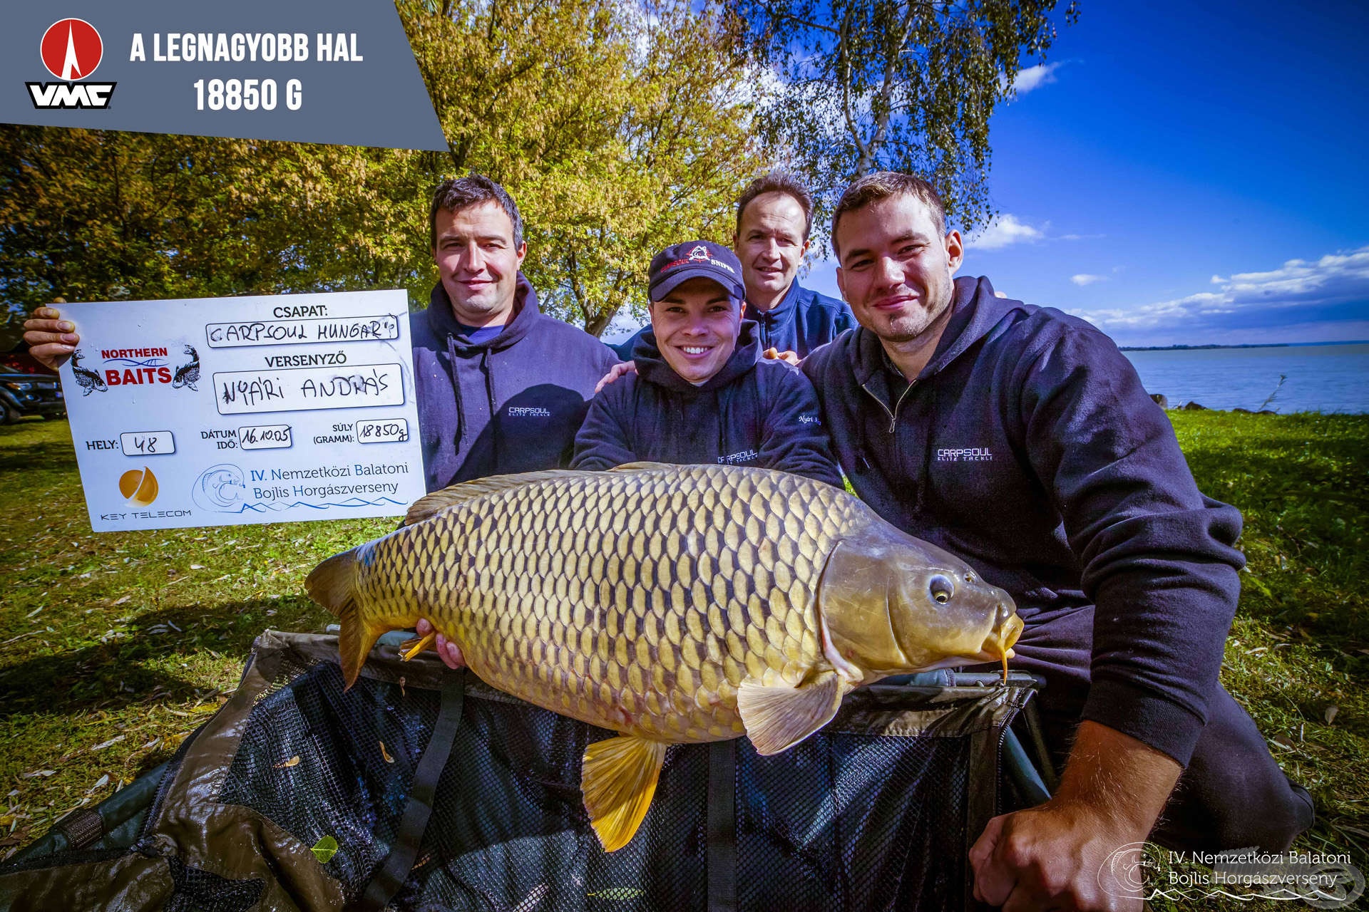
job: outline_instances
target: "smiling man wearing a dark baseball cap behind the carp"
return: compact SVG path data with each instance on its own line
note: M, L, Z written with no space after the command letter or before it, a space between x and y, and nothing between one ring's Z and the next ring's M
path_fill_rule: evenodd
M737 256L709 241L667 247L646 290L652 325L632 347L637 373L590 402L571 468L747 465L841 485L812 384L761 358L756 323L741 317Z

